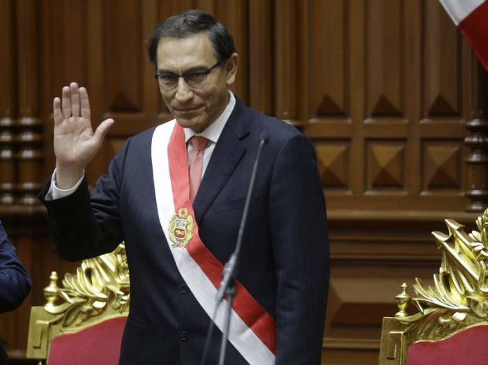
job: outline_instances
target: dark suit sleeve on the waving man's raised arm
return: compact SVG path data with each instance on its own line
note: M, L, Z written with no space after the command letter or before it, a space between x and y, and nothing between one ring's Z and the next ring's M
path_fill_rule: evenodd
M46 200L50 181L39 194L47 208L56 248L63 258L80 261L107 254L123 241L119 192L130 139L110 163L107 175L89 193L86 178L73 194Z

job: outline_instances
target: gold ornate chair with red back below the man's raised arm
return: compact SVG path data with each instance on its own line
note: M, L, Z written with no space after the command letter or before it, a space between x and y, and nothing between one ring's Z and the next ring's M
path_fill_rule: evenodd
M125 246L82 261L61 287L52 272L44 306L31 308L27 357L58 364L118 364L128 316Z

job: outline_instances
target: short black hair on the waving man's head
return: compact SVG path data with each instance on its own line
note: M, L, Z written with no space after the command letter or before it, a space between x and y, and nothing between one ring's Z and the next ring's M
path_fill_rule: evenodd
M161 38L185 38L201 32L208 34L218 61L222 62L236 52L234 38L222 23L204 11L187 10L167 18L153 29L147 40L149 61L156 65L156 50Z

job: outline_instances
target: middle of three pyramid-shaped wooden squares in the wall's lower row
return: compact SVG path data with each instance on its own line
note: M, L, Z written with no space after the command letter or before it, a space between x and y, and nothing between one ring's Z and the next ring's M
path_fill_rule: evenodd
M366 161L367 190L404 189L404 141L367 141Z

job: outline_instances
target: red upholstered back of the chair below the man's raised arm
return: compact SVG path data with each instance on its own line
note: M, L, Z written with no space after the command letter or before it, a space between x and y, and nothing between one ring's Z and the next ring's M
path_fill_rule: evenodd
M118 365L126 316L52 340L49 365Z

